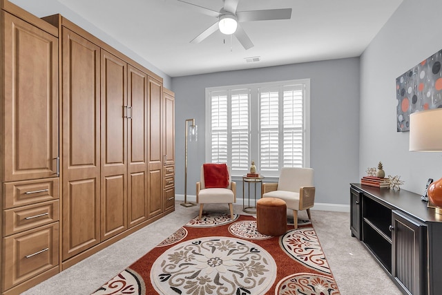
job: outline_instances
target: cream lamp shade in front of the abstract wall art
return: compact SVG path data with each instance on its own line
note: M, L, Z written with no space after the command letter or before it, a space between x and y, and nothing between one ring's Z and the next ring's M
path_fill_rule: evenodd
M442 108L410 115L410 151L442 151Z

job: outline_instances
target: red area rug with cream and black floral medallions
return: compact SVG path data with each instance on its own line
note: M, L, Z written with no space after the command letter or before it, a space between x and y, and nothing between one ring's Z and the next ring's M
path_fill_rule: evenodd
M282 236L254 216L194 218L93 294L338 295L309 222Z

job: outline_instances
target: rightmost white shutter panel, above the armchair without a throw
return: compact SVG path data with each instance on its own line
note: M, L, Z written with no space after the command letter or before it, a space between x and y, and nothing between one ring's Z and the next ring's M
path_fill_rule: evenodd
M302 167L302 86L283 88L283 166Z

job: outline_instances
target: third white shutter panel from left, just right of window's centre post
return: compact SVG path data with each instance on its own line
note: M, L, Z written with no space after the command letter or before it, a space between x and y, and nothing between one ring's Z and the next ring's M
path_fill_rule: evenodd
M279 169L279 93L260 89L260 171Z

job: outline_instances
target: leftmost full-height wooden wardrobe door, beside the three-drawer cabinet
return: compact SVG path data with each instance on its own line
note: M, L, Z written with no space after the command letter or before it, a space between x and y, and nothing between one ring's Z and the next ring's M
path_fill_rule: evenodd
M63 260L100 241L100 48L62 29Z

